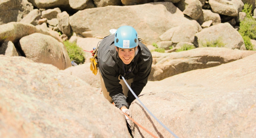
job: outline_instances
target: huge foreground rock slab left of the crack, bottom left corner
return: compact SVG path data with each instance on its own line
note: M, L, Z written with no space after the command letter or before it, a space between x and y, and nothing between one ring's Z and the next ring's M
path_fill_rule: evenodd
M0 55L1 137L130 138L124 116L81 79Z

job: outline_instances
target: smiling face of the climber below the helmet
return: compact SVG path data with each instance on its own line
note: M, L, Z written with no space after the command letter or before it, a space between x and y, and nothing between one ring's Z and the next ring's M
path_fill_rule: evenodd
M132 59L135 56L135 51L137 50L136 48L117 48L116 47L116 51L118 52L118 56L119 58L124 62L124 64L130 64L132 62Z

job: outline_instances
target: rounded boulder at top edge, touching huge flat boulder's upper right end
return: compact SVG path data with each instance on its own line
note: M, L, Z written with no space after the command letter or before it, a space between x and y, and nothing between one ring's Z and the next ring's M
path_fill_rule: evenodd
M202 12L202 3L199 0L180 0L175 4L179 10L194 20L198 20Z

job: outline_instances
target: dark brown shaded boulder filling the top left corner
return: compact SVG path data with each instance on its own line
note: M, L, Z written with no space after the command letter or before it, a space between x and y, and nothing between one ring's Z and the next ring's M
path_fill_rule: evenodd
M27 0L1 0L0 25L20 21L33 10L33 5Z

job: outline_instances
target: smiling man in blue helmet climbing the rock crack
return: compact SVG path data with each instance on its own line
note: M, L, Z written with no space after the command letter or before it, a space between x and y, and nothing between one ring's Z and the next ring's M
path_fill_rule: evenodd
M115 34L100 42L97 56L104 97L122 111L128 111L135 97L121 75L138 96L148 82L152 65L151 52L138 40L133 27L121 26Z

